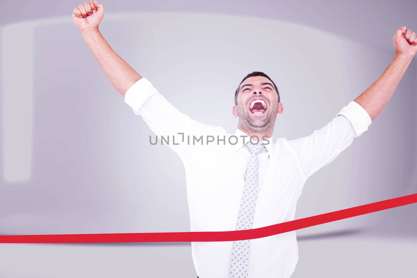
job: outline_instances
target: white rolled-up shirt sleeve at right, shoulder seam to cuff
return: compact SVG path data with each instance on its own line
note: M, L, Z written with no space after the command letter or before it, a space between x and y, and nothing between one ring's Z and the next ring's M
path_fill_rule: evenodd
M334 160L355 137L368 130L371 123L366 110L351 101L323 128L309 136L288 140L304 179Z

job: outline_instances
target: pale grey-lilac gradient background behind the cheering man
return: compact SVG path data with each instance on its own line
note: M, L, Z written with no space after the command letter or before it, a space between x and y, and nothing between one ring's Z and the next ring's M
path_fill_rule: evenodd
M326 125L382 74L395 30L417 30L411 1L102 3L111 47L202 123L234 133L234 90L268 74L284 106L275 139ZM107 81L73 25L78 4L1 4L0 234L189 231L181 160L149 144ZM417 192L416 76L413 60L369 130L306 181L296 218ZM413 277L416 208L298 230L291 277ZM2 278L74 276L196 271L189 243L0 244Z

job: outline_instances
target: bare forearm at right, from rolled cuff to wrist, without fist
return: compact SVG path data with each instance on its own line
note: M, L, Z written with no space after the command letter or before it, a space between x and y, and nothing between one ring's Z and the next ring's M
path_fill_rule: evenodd
M381 77L354 99L367 111L372 120L384 110L411 60L410 55L396 55Z

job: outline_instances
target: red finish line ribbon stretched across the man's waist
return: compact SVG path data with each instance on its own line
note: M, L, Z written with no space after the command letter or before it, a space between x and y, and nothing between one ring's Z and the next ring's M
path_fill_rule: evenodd
M0 235L0 243L116 243L116 242L191 242L234 241L263 238L279 233L329 223L336 220L372 213L388 208L417 203L417 193L389 200L359 205L331 213L301 218L262 228L224 232L176 232L176 233L93 233L69 235Z

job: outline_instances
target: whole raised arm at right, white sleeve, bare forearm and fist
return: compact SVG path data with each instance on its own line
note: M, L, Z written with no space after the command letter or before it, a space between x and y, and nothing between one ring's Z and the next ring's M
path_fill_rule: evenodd
M306 137L289 140L305 179L334 160L368 130L385 108L417 51L416 33L399 28L394 37L396 55L387 69L367 90L351 101L323 128Z

